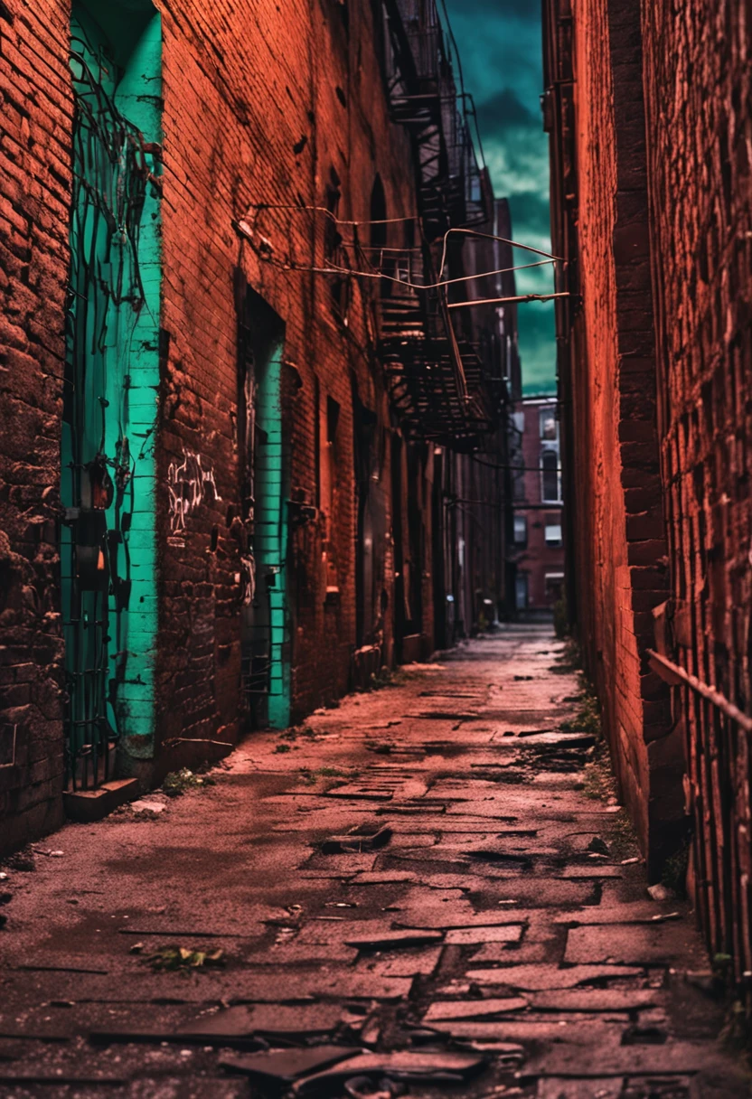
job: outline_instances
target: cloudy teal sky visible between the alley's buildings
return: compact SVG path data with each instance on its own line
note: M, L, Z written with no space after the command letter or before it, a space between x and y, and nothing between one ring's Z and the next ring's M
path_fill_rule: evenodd
M462 58L465 89L475 99L486 163L498 198L511 207L516 241L551 249L549 141L543 133L540 0L446 0ZM516 262L524 263L524 252ZM518 293L553 289L551 268L518 271ZM526 393L553 392L556 348L553 302L519 308Z

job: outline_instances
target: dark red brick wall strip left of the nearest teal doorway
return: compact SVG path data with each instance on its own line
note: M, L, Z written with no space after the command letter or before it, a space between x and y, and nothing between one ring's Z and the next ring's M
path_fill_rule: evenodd
M67 24L64 3L0 3L2 847L62 819L56 519L70 176Z

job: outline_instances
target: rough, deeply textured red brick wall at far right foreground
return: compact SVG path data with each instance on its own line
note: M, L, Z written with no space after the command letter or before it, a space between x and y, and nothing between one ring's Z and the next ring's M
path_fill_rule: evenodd
M752 56L749 3L642 5L670 654L752 708ZM752 969L749 741L676 689L692 881L714 952Z

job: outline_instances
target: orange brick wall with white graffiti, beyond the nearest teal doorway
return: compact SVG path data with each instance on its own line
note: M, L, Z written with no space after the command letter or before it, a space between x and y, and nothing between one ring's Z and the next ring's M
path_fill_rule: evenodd
M405 170L410 163L406 135L388 122L368 5L350 5L347 25L343 7L329 0L310 9L292 0L253 9L168 0L161 8L162 323L168 352L157 460L164 480L169 463L184 449L200 454L214 470L221 499L208 500L191 514L183 545L169 540L164 544L159 726L163 737L226 740L234 735L240 701L240 593L233 579L239 548L228 524L228 503L237 495L235 265L285 322L285 434L290 496L298 501L316 502L316 422L321 402L325 408L329 397L340 406L332 532L339 598L325 601L321 521L291 535L296 714L346 689L355 643L353 376L360 399L378 414L379 430L388 428L379 369L369 360L371 288L353 286L344 326L331 308L324 278L281 271L261 262L247 244L241 244L232 221L258 202L323 206L333 177L340 180L341 218L368 219L377 171L388 217L413 213L414 198L411 174ZM299 257L312 256L310 217L269 212L264 224L278 253L291 237ZM318 219L319 263L322 225ZM401 243L400 231L399 225L389 230L396 243ZM381 478L374 487L385 509L389 485L387 445ZM159 507L166 531L163 498ZM209 548L212 528L218 531L215 553ZM389 560L385 573L388 633ZM430 600L427 610L430 613ZM430 635L430 620L427 630Z

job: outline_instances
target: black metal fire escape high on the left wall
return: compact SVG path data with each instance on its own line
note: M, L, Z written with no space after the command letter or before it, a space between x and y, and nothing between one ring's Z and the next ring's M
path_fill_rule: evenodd
M385 10L391 118L412 141L422 236L406 251L402 268L405 281L420 289L392 284L381 301L380 357L406 430L472 451L493 430L498 399L476 347L452 323L445 289L435 284L447 230L487 225L491 211L471 137L468 97L457 90L434 0L385 0Z

